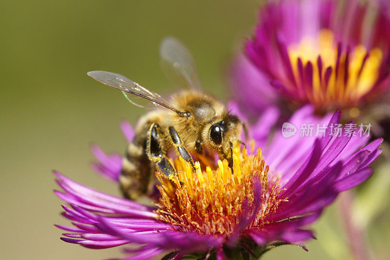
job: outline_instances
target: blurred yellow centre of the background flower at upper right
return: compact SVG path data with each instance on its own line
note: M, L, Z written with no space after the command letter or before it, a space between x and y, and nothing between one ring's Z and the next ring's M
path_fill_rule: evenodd
M305 37L298 44L290 45L288 53L294 79L298 85L304 86L304 99L321 111L356 106L378 80L383 58L379 48L368 51L363 45L357 45L348 55L347 51L339 54L337 66L337 44L329 29L322 29L316 39ZM321 71L317 65L319 56L322 60ZM308 62L312 63L312 80L302 79L298 58L303 64L303 75ZM327 71L330 69L329 74ZM355 110L353 114L356 115Z

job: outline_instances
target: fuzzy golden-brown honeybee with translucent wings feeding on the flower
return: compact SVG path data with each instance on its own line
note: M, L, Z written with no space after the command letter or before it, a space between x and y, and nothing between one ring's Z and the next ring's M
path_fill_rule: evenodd
M136 125L136 135L129 143L119 177L124 197L136 200L151 193L156 168L172 179L176 171L168 153L194 166L191 154L217 154L233 164L233 147L244 127L242 121L219 100L205 94L200 87L194 60L176 39L166 38L160 45L161 61L171 75L189 88L171 96L170 102L133 80L105 71L91 71L88 76L128 94L150 100L158 108L142 116Z

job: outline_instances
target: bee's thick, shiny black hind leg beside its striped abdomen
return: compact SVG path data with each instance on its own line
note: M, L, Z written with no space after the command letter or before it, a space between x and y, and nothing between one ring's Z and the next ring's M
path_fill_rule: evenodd
M176 171L172 163L165 156L165 152L161 146L159 140L160 126L157 123L153 123L149 130L148 141L146 145L146 153L150 160L156 162L157 167L164 173L169 179L172 179L176 175Z

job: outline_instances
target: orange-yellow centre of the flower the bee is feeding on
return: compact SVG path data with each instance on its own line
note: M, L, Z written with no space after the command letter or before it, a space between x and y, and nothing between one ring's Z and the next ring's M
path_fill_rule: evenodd
M203 160L204 162L205 160ZM276 211L279 181L269 180L269 167L259 148L249 156L245 148L234 148L233 167L227 160L216 165L195 162L195 169L181 158L175 159L177 176L168 180L156 173L161 197L156 202L158 218L182 231L228 236L261 200L251 226L261 226L267 214ZM204 169L201 169L204 167ZM261 182L261 198L255 198L254 180ZM245 202L244 202L245 201Z

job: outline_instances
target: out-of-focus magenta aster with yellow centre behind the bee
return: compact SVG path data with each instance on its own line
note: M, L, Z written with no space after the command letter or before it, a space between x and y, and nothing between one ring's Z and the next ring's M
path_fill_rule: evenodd
M245 52L290 108L354 118L390 87L390 17L359 0L270 2Z

